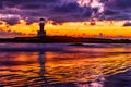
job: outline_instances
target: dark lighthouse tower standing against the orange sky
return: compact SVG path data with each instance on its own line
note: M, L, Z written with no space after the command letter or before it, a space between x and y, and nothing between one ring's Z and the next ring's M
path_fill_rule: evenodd
M38 33L37 33L37 36L38 37L44 37L44 36L46 36L46 30L45 30L45 22L46 22L46 20L45 18L40 18L39 20L39 30L38 30Z

